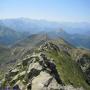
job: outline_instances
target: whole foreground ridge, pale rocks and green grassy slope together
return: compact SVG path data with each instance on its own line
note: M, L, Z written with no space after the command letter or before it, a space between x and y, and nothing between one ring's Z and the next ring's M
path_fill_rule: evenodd
M34 47L31 53L25 53L24 57L18 61L19 63L6 73L1 88L90 90L87 82L89 79L87 80L86 76L87 69L84 72L87 63L81 64L84 53L89 55L90 52L74 48L63 39L43 42L41 40L38 47ZM89 73L87 75L89 78Z

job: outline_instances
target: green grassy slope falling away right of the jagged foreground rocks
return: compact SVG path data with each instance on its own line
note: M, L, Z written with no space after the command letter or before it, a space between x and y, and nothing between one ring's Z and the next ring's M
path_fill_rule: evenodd
M54 42L55 44L65 43L62 42ZM68 47L66 45L66 47ZM72 84L74 87L84 87L85 90L90 90L90 86L85 81L85 76L83 75L80 67L76 63L76 61L66 54L65 52L56 52L56 51L47 51L46 55L55 60L57 70L62 81L65 84Z

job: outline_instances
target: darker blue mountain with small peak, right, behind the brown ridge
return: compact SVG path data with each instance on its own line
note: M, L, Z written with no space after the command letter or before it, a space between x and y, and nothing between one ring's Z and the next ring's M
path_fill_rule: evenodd
M57 39L63 38L72 45L80 48L90 49L90 35L89 34L69 34L64 30L48 32L49 37Z

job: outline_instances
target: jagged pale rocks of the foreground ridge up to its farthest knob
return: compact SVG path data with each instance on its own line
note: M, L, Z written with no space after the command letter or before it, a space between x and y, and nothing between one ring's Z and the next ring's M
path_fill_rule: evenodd
M58 73L55 59L45 53L48 49L60 51L54 44L46 43L40 46L37 52L27 55L22 62L6 73L0 90L85 90L83 86L74 87L71 82L65 84Z

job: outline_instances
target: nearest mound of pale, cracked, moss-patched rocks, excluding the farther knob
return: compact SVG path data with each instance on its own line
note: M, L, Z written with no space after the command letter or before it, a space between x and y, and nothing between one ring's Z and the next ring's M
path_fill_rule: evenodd
M60 90L62 85L55 63L43 53L24 58L2 80L2 88L16 90Z

